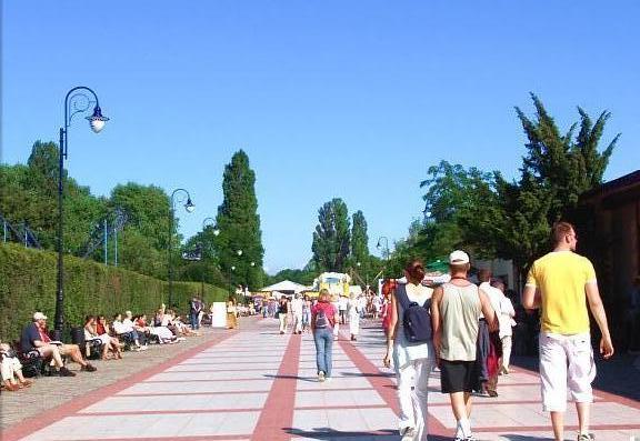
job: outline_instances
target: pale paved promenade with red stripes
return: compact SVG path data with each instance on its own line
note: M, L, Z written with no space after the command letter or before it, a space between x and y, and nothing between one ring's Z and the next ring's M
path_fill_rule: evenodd
M10 425L2 440L399 440L394 379L379 369L384 348L378 324L364 327L354 343L342 335L333 352L334 378L324 383L316 380L311 337L280 335L277 320L243 319L239 331L214 330L199 339L181 353L171 347L147 351L170 355ZM140 355L141 362L146 357L128 355ZM82 372L76 379L40 380L34 388L91 381L113 367L102 367L94 377ZM439 392L438 372L430 385L431 439L450 440L454 422ZM481 440L552 439L534 372L516 368L500 378L498 391L494 399L476 398L473 427ZM17 392L11 405L33 392ZM8 403L2 401L2 412ZM592 413L600 441L640 435L638 401L597 391ZM573 427L567 439L576 439L573 411L567 420Z

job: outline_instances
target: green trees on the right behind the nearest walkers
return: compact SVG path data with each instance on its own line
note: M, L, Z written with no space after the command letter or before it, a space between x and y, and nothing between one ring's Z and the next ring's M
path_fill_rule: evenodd
M562 132L542 101L533 93L531 100L532 118L516 107L527 138L516 179L447 161L428 169L420 183L424 217L396 243L390 264L394 273L401 273L410 255L446 259L451 250L463 248L477 258L511 259L524 274L549 251L553 222L564 219L579 229L590 228L592 213L580 198L602 183L619 140L617 134L600 148L611 113L602 111L593 120L578 108L579 120Z

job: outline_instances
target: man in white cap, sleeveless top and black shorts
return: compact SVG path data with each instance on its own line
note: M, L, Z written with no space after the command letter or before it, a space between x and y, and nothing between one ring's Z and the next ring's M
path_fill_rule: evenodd
M481 290L467 280L469 255L453 251L449 255L451 280L436 288L431 302L433 345L440 367L442 393L448 393L456 417L456 441L473 441L471 432L471 392L477 390L477 341L480 312L490 331L498 329L491 303Z

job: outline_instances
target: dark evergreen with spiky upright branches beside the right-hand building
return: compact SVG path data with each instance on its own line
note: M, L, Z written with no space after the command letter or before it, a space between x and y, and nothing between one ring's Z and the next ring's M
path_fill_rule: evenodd
M493 213L486 235L493 240L497 254L513 259L522 273L549 249L553 222L570 218L580 196L602 183L620 137L617 134L600 152L599 143L610 112L601 112L593 123L587 112L578 108L580 121L562 134L540 99L533 93L531 99L536 108L533 119L516 108L528 140L521 176L518 181L508 182L496 173L501 211Z

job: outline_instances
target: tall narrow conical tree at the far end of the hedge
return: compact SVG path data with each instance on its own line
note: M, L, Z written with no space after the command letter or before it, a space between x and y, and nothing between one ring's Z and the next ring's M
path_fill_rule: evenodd
M220 234L216 245L221 269L229 275L230 283L248 284L251 289L262 283L264 255L254 186L256 173L249 167L249 157L240 150L224 167L223 200L216 218Z

